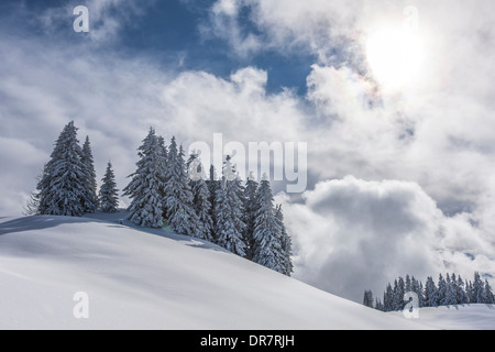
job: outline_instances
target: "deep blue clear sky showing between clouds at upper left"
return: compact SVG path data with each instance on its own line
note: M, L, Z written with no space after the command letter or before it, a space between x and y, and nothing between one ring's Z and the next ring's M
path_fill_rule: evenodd
M296 89L306 94L306 77L310 72L314 57L309 53L285 55L277 51L263 51L249 57L242 57L231 51L229 44L221 38L201 34L201 26L207 25L210 8L215 1L150 1L138 15L134 10L127 9L116 2L109 11L123 12L130 19L119 28L111 42L98 50L118 53L128 57L146 57L155 61L164 69L177 67L178 70L205 70L220 77L229 77L232 72L245 66L255 66L268 73L267 89L280 91L283 88ZM88 41L88 35L72 31L76 15L69 13L70 8L86 1L3 1L0 4L3 19L13 21L9 24L12 32L22 36L34 36L47 43L65 43L77 45L78 41ZM58 11L64 7L50 30L33 21L36 13ZM100 26L101 21L90 23ZM125 14L125 12L128 12ZM64 15L66 14L66 15ZM20 19L23 25L18 25ZM7 22L9 23L9 22ZM239 16L239 25L246 35L256 31L250 21L250 11Z

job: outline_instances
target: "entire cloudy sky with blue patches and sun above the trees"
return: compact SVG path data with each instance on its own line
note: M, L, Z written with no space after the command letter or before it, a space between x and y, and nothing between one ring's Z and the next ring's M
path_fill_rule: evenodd
M89 32L76 33L77 6ZM193 142L307 143L274 183L294 276L356 301L406 274L495 277L490 0L0 3L0 216L63 127L122 189L150 125ZM284 164L277 160L275 163Z

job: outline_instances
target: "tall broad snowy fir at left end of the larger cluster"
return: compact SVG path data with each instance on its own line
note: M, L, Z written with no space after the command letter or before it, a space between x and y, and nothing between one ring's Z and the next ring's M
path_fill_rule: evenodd
M163 150L153 128L138 151L138 169L129 176L132 179L123 189L124 195L132 199L128 219L144 228L162 228L165 175L160 165Z

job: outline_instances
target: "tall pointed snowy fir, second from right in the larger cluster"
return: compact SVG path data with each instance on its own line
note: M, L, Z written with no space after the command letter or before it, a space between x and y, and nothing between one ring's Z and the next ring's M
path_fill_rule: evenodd
M282 229L278 226L273 205L273 195L266 175L256 194L256 219L254 228L253 261L278 273L286 273L286 256L282 244Z

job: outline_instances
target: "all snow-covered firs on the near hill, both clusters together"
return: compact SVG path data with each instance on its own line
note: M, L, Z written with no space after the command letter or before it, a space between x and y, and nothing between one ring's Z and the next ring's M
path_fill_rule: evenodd
M89 139L82 146L69 122L59 134L36 191L28 204L35 215L80 217L97 210L118 211L118 189L111 163L97 194ZM250 175L245 186L227 157L222 177L209 179L193 153L170 144L150 129L138 148L136 170L123 195L131 199L128 220L147 228L169 226L176 233L217 243L224 249L285 275L293 272L292 241L280 206L274 205L270 182Z

